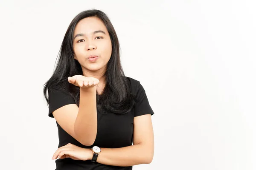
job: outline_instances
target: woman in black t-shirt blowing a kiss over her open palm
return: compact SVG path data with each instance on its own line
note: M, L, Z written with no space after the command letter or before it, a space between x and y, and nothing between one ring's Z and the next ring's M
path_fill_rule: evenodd
M104 12L87 10L72 20L44 96L58 127L57 170L151 163L154 112L140 81L124 75L119 41Z

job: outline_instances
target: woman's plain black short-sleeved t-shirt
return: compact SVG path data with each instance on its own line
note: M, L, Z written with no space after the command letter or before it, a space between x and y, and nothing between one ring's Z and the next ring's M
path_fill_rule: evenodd
M68 143L75 144L83 148L92 148L93 146L105 148L126 147L133 144L133 123L134 117L144 114L153 115L154 112L149 105L148 98L145 94L140 81L127 77L131 83L132 94L136 96L136 102L133 109L125 114L102 114L97 111L98 127L96 140L92 146L85 146L64 131L56 121L58 127L58 147ZM64 105L75 104L75 100L70 94L55 88L49 91L49 117L53 117L52 112ZM132 170L130 167L119 167L100 164L90 160L73 160L71 158L56 159L57 170Z

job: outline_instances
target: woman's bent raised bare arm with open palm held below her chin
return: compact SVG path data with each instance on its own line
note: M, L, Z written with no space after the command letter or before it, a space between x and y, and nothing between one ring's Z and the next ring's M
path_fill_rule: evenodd
M85 81L83 81L83 79ZM58 124L63 130L70 134L70 136L83 145L91 146L97 134L98 121L95 85L99 83L99 80L74 76L69 82L77 86L80 85L79 107L76 104L64 105L53 111L52 114ZM86 88L83 86L86 86Z

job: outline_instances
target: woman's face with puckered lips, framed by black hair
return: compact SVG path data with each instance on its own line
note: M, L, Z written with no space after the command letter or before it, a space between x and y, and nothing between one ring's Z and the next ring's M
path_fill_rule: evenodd
M105 72L111 57L112 45L107 28L97 17L87 17L79 21L74 30L74 58L80 63L83 73L91 71ZM96 55L96 60L90 60Z

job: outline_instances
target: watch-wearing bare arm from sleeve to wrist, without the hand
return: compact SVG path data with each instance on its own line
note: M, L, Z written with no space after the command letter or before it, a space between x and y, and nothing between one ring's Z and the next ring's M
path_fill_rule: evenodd
M151 114L134 117L134 145L101 148L97 162L113 166L133 166L151 163L154 155L154 132ZM93 151L91 158L93 157Z

